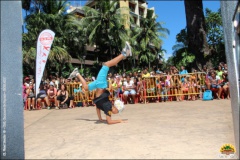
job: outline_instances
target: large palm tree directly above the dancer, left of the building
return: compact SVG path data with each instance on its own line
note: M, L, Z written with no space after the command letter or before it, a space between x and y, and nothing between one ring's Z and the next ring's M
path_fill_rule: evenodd
M124 28L124 15L119 8L119 2L102 0L96 1L96 8L83 7L85 17L80 21L73 20L74 24L81 26L83 36L87 38L89 45L96 45L101 53L108 53L111 59L113 50L121 51L125 41L128 39Z

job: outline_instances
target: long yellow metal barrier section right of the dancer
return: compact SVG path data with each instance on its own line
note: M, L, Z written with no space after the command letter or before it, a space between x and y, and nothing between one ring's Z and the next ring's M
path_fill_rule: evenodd
M196 98L202 96L205 91L204 72L195 72L188 74L160 75L143 78L144 101L147 98L156 98L157 100L183 100L186 97Z

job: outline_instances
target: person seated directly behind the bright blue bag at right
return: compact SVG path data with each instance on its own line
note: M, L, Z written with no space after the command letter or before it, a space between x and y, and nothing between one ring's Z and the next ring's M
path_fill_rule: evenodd
M222 87L220 86L221 80L219 76L216 75L215 72L211 73L211 77L209 78L211 89L217 90L217 99L220 100L220 96L222 93Z

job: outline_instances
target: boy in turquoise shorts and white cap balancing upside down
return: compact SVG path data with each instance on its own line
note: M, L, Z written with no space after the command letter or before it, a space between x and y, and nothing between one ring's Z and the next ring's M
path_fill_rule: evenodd
M128 42L126 42L126 45L123 48L120 55L103 64L101 70L98 73L97 79L95 81L87 84L85 79L79 74L78 68L75 68L69 76L70 79L74 77L78 77L85 91L92 91L96 89L96 98L93 100L93 102L96 104L96 111L97 111L98 118L100 121L107 121L108 124L126 122L121 119L112 120L111 115L117 114L123 111L124 105L119 100L118 102L115 101L114 105L112 105L111 101L108 98L110 93L108 90L106 90L106 88L108 86L107 75L108 75L109 68L117 65L118 62L120 62L121 60L123 60L128 56L132 56L132 52L131 52L131 46L129 45ZM106 120L102 119L101 110L106 114Z

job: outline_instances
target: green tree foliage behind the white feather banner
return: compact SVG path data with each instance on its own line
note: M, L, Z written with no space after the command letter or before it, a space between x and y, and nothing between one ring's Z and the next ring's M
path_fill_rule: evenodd
M36 1L32 1L36 3ZM68 16L63 14L67 6L66 1L42 0L38 2L35 9L41 12L33 12L29 14L26 19L27 33L23 33L23 67L24 74L35 73L35 57L37 38L41 31L50 29L55 32L55 39L49 54L49 63L45 67L45 76L48 74L47 70L55 71L61 76L61 68L63 65L70 65L71 55L76 56L75 53L70 54L72 41L68 40L69 34L75 32L76 26L71 26L67 23ZM34 7L34 5L32 5ZM39 7L41 6L41 7Z

